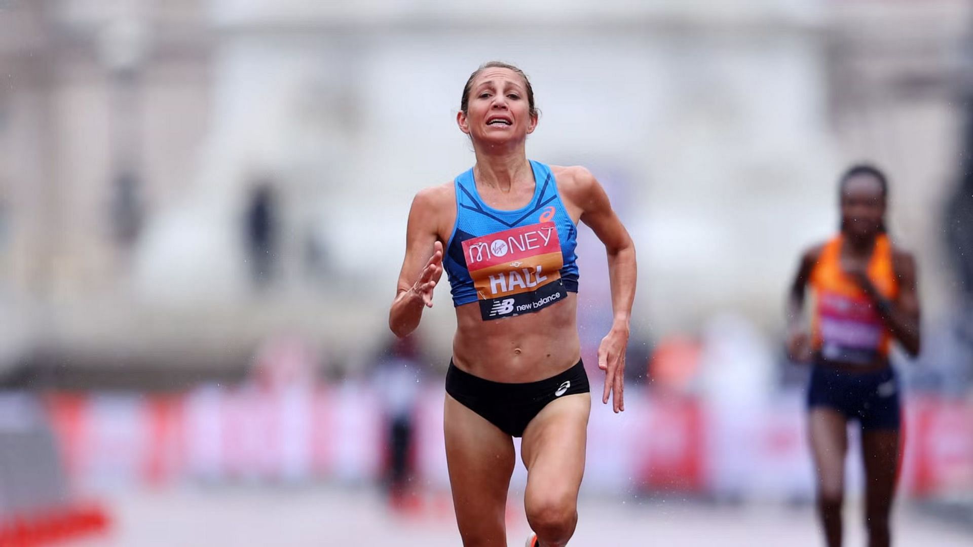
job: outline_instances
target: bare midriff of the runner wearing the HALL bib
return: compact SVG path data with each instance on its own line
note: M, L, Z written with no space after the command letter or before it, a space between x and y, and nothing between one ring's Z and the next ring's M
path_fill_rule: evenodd
M536 382L558 375L581 358L578 295L533 313L484 321L480 304L456 307L452 362L493 382Z

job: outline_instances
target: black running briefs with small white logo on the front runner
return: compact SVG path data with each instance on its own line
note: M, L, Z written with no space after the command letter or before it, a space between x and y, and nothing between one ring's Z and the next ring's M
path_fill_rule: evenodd
M528 383L484 380L459 370L452 361L446 373L446 392L453 399L514 437L522 436L527 423L551 401L589 391L581 361L557 376Z

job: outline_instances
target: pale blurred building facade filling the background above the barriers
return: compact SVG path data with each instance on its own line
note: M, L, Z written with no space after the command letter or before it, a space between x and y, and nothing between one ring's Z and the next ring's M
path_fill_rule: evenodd
M729 310L775 336L859 160L890 174L939 321L971 21L959 0L0 2L0 367L175 382L287 331L355 368L384 334L411 197L473 162L454 116L492 58L532 78L528 154L589 166L635 237L641 335ZM255 283L260 188L279 242ZM597 316L603 254L581 245ZM436 299L423 328L447 355Z

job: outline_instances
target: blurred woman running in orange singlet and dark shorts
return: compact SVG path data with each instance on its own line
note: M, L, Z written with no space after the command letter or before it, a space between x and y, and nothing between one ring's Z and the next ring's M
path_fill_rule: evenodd
M791 287L788 351L811 360L809 434L817 509L829 547L842 544L847 422L861 425L870 547L890 542L888 516L899 461L899 384L892 339L919 353L916 261L885 233L885 175L849 168L839 184L841 232L809 249ZM801 327L805 286L815 293L811 333Z

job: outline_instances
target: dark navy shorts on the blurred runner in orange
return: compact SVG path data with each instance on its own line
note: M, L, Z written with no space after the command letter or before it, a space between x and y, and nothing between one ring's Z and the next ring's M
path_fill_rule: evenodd
M862 429L898 429L899 380L892 367L858 373L815 364L808 386L808 408L814 407L835 409L847 419L857 419Z

